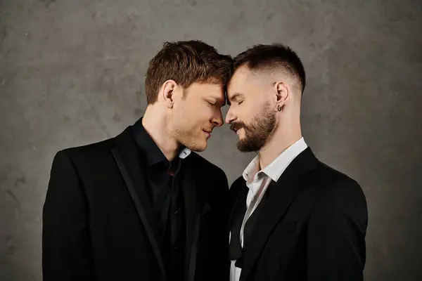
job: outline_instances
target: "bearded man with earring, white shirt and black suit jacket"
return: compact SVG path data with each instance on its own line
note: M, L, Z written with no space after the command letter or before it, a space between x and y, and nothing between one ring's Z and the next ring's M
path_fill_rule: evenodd
M234 58L226 122L239 150L259 153L231 185L231 281L363 280L366 198L305 143L304 89L304 67L287 46Z

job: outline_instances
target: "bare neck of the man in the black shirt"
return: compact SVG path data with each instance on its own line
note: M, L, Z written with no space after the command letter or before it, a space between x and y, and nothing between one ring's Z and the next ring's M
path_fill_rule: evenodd
M172 161L179 152L180 145L170 136L165 116L165 112L161 112L159 108L148 105L142 118L142 125L167 160Z

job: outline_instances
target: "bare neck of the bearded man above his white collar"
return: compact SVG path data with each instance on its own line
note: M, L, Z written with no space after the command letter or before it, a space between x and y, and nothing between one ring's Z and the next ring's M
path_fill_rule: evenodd
M260 149L260 169L264 169L271 164L284 150L302 138L300 120L295 120L295 122L286 121L276 127L267 143Z

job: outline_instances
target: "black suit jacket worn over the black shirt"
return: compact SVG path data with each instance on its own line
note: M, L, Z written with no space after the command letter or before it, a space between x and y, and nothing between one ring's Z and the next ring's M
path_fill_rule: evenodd
M166 280L140 157L130 127L56 154L43 209L45 281ZM186 280L226 280L226 175L194 152L184 166Z

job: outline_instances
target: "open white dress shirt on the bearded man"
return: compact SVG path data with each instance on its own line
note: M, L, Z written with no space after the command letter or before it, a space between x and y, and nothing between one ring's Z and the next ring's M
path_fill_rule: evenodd
M243 178L248 185L249 192L248 197L246 198L246 213L243 218L243 223L240 233L240 242L243 247L243 228L245 228L245 223L248 221L250 215L257 208L262 200L262 196L271 180L278 181L283 171L286 170L288 165L295 159L300 153L307 148L307 144L303 138L300 138L298 141L290 145L286 150L281 152L281 154L274 159L268 166L264 169L260 169L260 156L257 155L250 164L243 171ZM231 233L230 233L231 237ZM236 260L231 261L230 267L230 281L238 281L241 277L241 268L237 268L234 263Z

